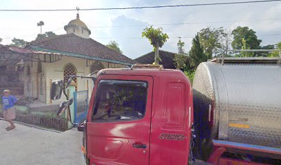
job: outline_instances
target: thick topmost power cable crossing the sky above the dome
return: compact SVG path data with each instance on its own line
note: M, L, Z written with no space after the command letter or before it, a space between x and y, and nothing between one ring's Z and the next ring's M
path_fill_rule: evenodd
M141 7L125 7L125 8L85 8L79 9L84 11L90 10L132 10L132 9L146 9L146 8L178 8L178 7L193 7L202 5L235 5L246 3L264 3L275 2L281 0L263 0L263 1L239 1L239 2L220 2L220 3L197 3L197 4L185 4L185 5L154 5L154 6L141 6ZM65 12L76 11L77 9L0 9L0 12Z

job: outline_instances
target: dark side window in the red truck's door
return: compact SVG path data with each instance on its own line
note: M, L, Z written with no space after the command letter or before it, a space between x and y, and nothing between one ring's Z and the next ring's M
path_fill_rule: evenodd
M94 122L138 120L145 115L147 83L101 80L94 104Z

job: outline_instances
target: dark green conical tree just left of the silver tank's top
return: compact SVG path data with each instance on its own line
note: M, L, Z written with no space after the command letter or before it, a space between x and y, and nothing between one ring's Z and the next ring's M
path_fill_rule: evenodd
M199 34L197 33L192 40L191 50L189 50L189 57L191 60L191 67L196 68L200 63L208 60L208 56L204 53L199 41Z

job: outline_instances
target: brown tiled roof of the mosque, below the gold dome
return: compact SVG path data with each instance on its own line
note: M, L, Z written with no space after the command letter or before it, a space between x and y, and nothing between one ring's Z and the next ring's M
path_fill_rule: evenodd
M85 58L94 57L101 58L101 60L110 60L110 61L119 61L122 63L134 64L131 58L119 54L114 50L110 50L110 48L105 45L94 41L93 39L85 39L81 36L76 36L75 34L63 34L58 36L52 36L45 39L38 39L32 41L28 47L41 47L45 50L56 50L61 54L63 52L71 53L71 54L79 54L85 55ZM45 51L48 52L48 51ZM69 54L64 54L69 55ZM69 55L70 56L70 55Z

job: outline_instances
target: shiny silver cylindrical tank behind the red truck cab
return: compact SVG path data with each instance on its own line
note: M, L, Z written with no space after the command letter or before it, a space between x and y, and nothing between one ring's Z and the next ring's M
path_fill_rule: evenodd
M207 160L221 154L281 164L279 58L216 58L201 63L193 93L198 157ZM216 151L218 146L225 147Z

